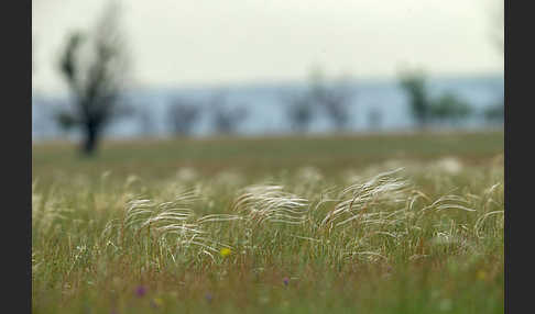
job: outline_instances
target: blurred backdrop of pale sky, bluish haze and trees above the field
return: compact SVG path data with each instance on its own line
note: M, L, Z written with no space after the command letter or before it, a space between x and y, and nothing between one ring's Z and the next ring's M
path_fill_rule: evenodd
M34 143L503 127L503 1L32 4Z

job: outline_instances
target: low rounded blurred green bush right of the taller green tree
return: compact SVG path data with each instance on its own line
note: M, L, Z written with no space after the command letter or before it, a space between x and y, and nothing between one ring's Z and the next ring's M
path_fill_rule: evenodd
M449 122L457 124L468 117L471 113L470 105L460 100L452 92L446 92L437 100L434 100L430 106L430 115L438 122Z

